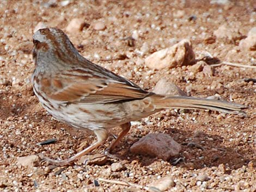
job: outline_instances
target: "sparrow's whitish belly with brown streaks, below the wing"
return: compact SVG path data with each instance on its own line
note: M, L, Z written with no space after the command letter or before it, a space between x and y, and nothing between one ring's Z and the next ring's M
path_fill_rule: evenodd
M56 101L39 100L42 106L57 120L68 123L75 128L92 131L112 128L124 123L127 114L118 104L66 104Z

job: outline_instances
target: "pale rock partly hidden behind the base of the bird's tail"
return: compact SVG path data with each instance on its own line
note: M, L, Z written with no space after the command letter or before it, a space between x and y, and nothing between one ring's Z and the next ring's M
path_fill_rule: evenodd
M153 92L162 95L187 96L187 94L184 91L182 91L177 85L168 82L166 78L162 78L159 80L159 82L156 83Z

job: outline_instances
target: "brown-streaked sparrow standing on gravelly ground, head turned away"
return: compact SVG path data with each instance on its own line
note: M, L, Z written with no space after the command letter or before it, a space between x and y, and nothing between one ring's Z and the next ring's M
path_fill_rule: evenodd
M89 129L96 141L63 160L40 154L48 164L65 166L105 144L109 129L121 132L106 151L110 152L129 132L131 121L163 109L210 109L239 114L242 104L191 96L160 95L84 58L63 30L42 28L33 34L33 91L39 102L58 121Z

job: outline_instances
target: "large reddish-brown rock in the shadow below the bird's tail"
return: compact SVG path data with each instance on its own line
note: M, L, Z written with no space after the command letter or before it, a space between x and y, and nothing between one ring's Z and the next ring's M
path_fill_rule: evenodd
M148 154L149 156L169 160L173 156L177 156L181 150L178 144L168 134L153 133L141 138L130 148L132 153Z

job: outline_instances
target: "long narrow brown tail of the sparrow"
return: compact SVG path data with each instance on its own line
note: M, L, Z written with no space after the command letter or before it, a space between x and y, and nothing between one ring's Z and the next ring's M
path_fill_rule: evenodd
M161 95L154 95L151 97L153 97L155 107L158 109L210 109L223 113L239 114L243 113L241 109L246 108L246 106L241 104L220 100L209 100L206 98Z

